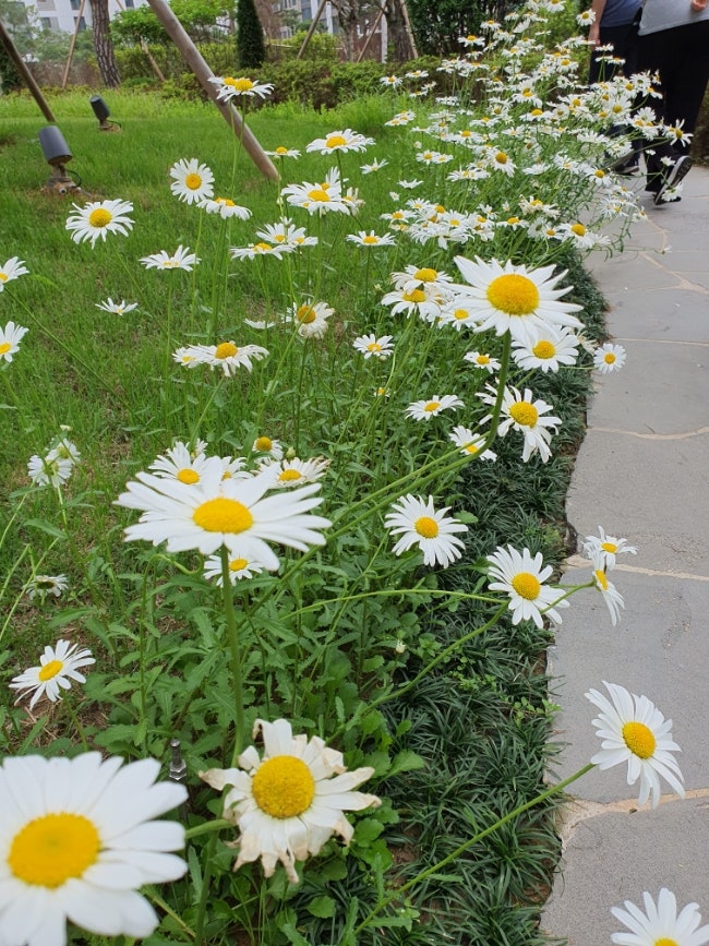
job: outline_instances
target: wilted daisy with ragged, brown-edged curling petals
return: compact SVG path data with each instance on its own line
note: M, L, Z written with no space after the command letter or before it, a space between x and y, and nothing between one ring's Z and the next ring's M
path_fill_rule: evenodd
M229 787L224 817L239 827L238 870L261 858L269 877L278 861L291 883L298 883L296 862L317 854L323 845L339 835L349 843L353 835L345 812L381 804L375 795L352 791L374 775L370 767L348 773L343 754L328 749L316 735L293 737L286 719L257 719L254 739L261 733L260 757L251 745L239 756L240 768L200 773L217 791Z

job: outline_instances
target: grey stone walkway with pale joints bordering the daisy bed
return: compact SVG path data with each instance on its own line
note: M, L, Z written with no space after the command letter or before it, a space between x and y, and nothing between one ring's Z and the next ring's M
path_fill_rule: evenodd
M608 330L627 350L599 378L567 499L579 540L606 532L637 546L611 580L625 598L611 626L599 596L572 599L550 652L562 706L554 739L561 779L600 749L584 696L602 681L649 697L674 720L687 798L663 782L660 806L637 806L626 766L591 771L569 789L564 855L542 918L569 946L606 946L611 907L641 906L662 886L709 922L709 170L693 168L682 203L654 207L624 252L590 261L610 304ZM580 556L566 584L588 580Z

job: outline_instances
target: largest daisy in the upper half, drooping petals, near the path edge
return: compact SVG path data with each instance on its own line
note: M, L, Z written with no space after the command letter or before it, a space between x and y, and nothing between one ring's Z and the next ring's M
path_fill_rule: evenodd
M581 307L558 301L560 296L572 289L570 286L555 288L566 272L552 276L553 266L528 271L510 262L504 266L496 260L483 263L479 256L474 262L456 256L456 263L470 284L458 288L466 303L473 306L479 314L476 331L494 328L497 335L510 332L514 339L525 342L549 325L582 327L572 314Z

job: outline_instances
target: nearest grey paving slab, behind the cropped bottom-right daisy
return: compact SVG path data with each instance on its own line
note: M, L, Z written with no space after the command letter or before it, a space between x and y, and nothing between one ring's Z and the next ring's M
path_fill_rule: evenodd
M668 800L654 811L626 805L587 818L568 841L563 882L546 905L542 930L568 937L569 946L609 946L611 935L625 929L611 907L625 900L641 907L644 890L657 900L663 886L673 890L680 908L699 903L707 922L707 851L706 795Z

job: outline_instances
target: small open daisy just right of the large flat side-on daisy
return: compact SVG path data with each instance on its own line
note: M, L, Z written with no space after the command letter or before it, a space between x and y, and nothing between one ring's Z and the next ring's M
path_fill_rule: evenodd
M452 516L446 516L450 506L436 510L433 496L425 502L421 496L409 493L401 496L392 506L393 512L384 519L384 526L393 536L400 536L394 546L394 554L400 555L412 546L418 546L423 552L424 565L442 565L447 568L452 562L459 559L465 550L465 543L456 537L456 532L467 532L468 527Z

